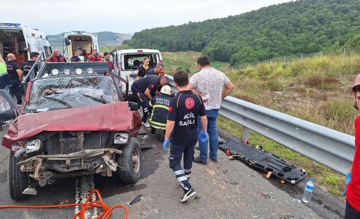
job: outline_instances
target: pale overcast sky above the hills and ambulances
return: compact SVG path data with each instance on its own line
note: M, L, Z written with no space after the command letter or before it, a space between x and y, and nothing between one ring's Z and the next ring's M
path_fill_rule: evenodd
M5 0L4 0L5 1ZM135 33L145 28L179 25L238 15L289 0L13 0L0 22L21 23L47 35L85 30Z

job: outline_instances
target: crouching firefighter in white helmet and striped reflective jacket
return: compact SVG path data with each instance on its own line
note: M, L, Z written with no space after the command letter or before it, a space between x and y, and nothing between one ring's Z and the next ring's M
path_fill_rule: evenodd
M152 129L160 129L165 133L166 118L171 100L171 88L165 85L160 90L160 95L155 96L149 102L151 113L147 121Z

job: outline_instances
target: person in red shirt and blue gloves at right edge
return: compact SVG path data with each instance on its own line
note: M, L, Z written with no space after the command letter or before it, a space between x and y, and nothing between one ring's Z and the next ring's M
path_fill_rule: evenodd
M360 106L360 75L352 86L356 110ZM360 218L360 116L355 119L355 155L347 173L345 219ZM345 194L344 194L345 195Z

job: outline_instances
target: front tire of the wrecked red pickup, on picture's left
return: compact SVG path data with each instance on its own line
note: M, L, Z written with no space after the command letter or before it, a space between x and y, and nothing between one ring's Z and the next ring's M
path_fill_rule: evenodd
M22 194L22 192L28 187L28 174L22 172L16 163L20 162L14 157L14 152L10 151L9 155L9 172L8 172L8 183L10 190L10 197L13 200L27 199L29 195Z

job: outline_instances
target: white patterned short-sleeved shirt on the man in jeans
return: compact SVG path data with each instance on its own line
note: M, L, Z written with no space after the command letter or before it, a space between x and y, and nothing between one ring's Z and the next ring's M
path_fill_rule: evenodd
M210 98L205 102L205 109L219 109L223 87L230 80L226 75L214 68L203 68L190 78L190 84L199 93L208 93Z

